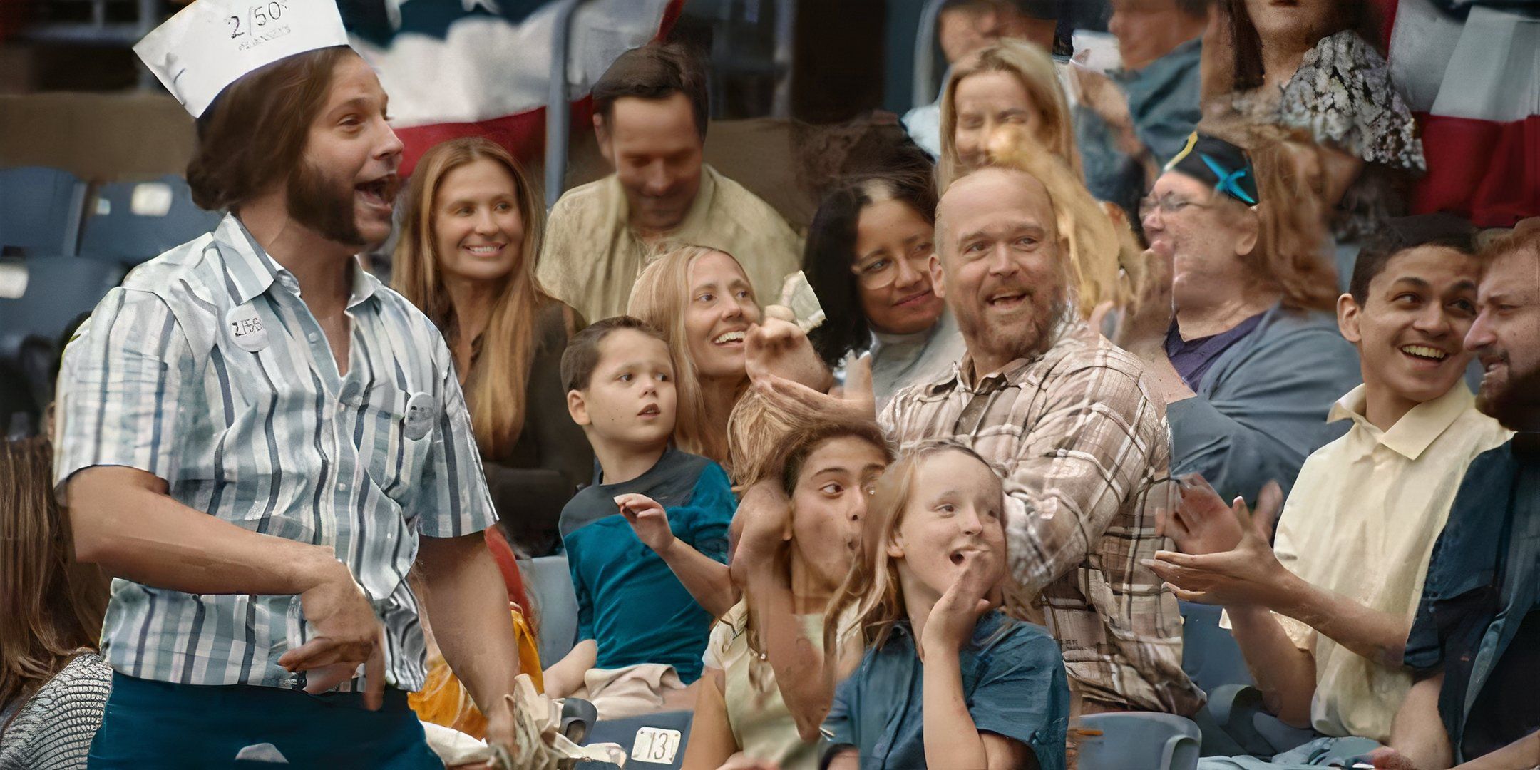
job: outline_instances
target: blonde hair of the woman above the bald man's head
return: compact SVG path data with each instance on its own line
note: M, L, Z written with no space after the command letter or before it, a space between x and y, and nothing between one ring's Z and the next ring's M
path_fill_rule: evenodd
M1038 109L1041 131L1047 136L1033 137L1041 146L1056 154L1075 172L1075 179L1083 179L1080 166L1080 151L1075 148L1075 128L1070 122L1069 99L1060 83L1053 57L1041 46L1023 40L1001 40L978 54L961 62L952 69L947 86L941 92L941 162L936 166L938 188L946 189L952 182L966 172L962 160L958 157L956 128L958 83L969 75L979 72L1006 72L1016 75L1021 86L1027 89L1032 105Z

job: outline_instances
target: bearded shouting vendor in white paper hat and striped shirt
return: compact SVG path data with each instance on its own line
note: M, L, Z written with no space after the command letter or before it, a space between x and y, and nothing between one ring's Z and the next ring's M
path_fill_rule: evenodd
M511 741L496 521L450 351L354 254L402 145L333 0L197 0L139 46L228 216L140 266L63 363L57 488L119 579L89 767L442 767L407 705L439 647ZM362 676L360 676L362 668Z

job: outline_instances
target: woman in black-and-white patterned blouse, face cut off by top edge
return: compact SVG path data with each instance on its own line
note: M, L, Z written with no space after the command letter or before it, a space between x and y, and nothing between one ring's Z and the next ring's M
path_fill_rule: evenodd
M1218 91L1240 116L1300 128L1327 156L1332 231L1357 242L1378 222L1404 214L1404 186L1428 169L1412 111L1391 82L1374 3L1340 0L1224 0L1221 26L1234 45L1204 45ZM1215 94L1220 95L1220 94ZM1357 254L1351 249L1348 257ZM1341 257L1340 257L1341 260ZM1351 259L1340 265L1348 274Z

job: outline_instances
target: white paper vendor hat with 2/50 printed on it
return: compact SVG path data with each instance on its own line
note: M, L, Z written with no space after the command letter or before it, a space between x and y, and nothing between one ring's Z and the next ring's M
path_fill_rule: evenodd
M348 45L336 0L196 0L145 35L134 52L192 117L265 65Z

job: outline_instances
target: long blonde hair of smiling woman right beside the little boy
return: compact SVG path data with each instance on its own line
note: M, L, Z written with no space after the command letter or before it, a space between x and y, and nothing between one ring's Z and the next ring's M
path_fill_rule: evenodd
M627 314L651 323L668 340L668 357L673 359L675 365L675 393L679 403L679 417L675 420L675 445L691 454L725 462L728 454L727 431L713 431L708 425L701 370L690 357L690 337L684 328L685 308L690 305L690 268L707 254L727 253L708 246L661 246L642 274L636 277L636 283L631 285ZM738 262L738 257L727 256L735 263ZM738 270L742 270L742 265Z

